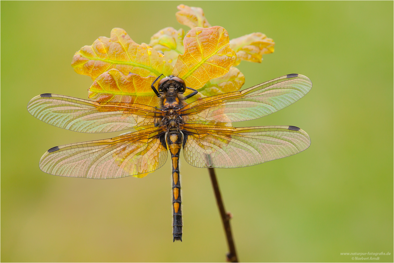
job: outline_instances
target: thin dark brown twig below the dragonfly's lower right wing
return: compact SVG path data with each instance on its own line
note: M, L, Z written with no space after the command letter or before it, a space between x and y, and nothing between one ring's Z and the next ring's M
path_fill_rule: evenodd
M230 262L238 262L237 252L235 251L234 239L232 239L230 213L226 213L224 209L223 200L221 198L219 184L217 183L216 173L214 168L208 168L209 176L211 177L212 187L214 188L217 206L219 207L220 216L223 221L224 231L226 232L227 244L229 245L230 252L227 254L227 260Z

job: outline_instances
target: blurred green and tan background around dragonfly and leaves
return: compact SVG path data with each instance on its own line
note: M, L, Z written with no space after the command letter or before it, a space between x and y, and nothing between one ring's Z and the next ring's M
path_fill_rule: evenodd
M208 171L181 160L183 242L172 242L171 164L143 179L41 172L50 147L116 136L33 118L41 93L87 98L74 52L124 28L137 43L204 9L231 38L263 32L275 52L242 62L243 88L299 73L297 103L238 126L295 125L312 145L248 168L217 169L240 261L393 262L393 2L1 2L1 261L224 261ZM187 29L186 27L183 27Z

